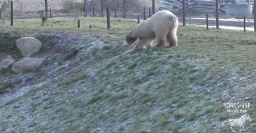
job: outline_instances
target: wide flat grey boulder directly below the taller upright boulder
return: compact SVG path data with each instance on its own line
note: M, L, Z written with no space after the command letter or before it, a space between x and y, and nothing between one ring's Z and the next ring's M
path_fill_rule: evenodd
M12 71L21 72L26 69L32 69L35 71L39 66L42 65L44 58L30 58L25 57L12 65Z

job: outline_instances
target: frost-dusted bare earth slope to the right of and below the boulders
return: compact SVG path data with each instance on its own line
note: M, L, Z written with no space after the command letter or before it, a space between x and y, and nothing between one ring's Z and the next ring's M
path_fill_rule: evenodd
M80 72L85 66L102 59L101 55L116 48L116 45L105 46L100 38L78 33L34 30L30 36L43 44L31 57L44 58L44 62L36 72L0 75L0 108L33 96L37 91L59 82L64 77Z

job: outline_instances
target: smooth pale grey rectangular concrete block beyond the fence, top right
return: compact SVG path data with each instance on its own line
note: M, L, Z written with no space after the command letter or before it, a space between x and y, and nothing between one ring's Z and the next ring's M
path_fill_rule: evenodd
M252 14L251 4L227 4L226 14L234 16L248 16Z

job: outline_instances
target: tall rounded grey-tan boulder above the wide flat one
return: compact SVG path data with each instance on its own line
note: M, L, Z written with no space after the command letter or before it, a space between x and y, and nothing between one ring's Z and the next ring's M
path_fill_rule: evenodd
M42 47L42 43L34 37L21 37L15 41L15 44L24 57L30 57Z

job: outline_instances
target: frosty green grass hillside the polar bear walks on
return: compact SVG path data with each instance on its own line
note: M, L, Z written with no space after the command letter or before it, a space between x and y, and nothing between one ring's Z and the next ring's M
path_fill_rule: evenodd
M103 49L79 54L80 63L92 56L101 59L29 98L0 107L0 129L7 133L137 133L139 129L230 133L222 122L243 113L225 112L223 102L250 102L252 121L244 126L247 133L256 132L255 33L179 26L177 47L128 52L121 43L137 22L111 19L112 30L107 31L105 21L82 18L79 30L70 19L48 20L53 26L44 28L39 19L16 21L21 31L100 34L117 47L108 54L102 54Z

